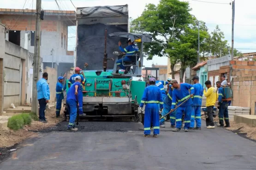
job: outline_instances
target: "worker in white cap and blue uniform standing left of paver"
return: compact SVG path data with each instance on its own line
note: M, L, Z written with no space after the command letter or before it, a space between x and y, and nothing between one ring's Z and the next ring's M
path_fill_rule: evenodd
M70 113L67 131L77 131L77 128L75 128L75 120L77 117L77 106L79 107L79 100L81 100L81 98L79 98L79 93L83 93L80 88L81 76L75 76L74 80L75 82L71 85L67 92L66 104Z

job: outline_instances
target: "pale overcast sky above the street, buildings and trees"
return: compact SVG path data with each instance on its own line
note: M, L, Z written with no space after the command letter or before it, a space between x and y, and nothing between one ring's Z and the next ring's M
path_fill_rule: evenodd
M25 6L24 6L24 2ZM191 14L197 19L206 23L209 31L213 31L218 24L225 34L225 39L231 44L232 38L232 0L184 0L190 3ZM200 2L205 1L205 2ZM1 8L36 8L36 0L0 0ZM57 0L62 10L75 10L71 0ZM159 0L72 0L77 7L87 6L106 6L106 5L125 5L129 7L129 17L137 18L141 15L146 4L158 4ZM206 3L206 2L215 2ZM223 3L223 4L222 4ZM243 53L256 51L256 0L236 0L235 12L235 36L234 47ZM55 0L42 0L42 9L58 10ZM69 29L69 37L75 36L75 27ZM68 49L75 47L75 38L68 39ZM145 60L144 60L145 61ZM145 61L144 65L167 64L167 58L154 57L153 60Z

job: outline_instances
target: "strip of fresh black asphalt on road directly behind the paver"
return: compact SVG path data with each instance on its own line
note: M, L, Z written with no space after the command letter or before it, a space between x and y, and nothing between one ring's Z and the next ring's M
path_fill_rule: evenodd
M54 131L66 131L68 122L61 122L57 126L49 129L43 129L41 133L48 133ZM142 123L135 122L79 122L78 131L82 132L96 132L96 131L113 131L113 132L127 132L127 131L141 131L143 129ZM77 127L77 125L76 125Z

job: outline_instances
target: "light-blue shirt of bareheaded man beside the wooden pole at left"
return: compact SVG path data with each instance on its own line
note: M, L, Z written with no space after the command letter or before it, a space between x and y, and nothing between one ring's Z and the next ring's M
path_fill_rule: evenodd
M37 100L43 99L43 98L45 100L50 100L50 88L47 80L45 80L44 78L41 78L36 83L36 89L37 89Z

